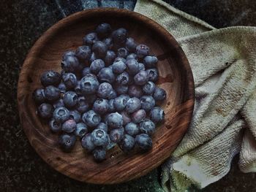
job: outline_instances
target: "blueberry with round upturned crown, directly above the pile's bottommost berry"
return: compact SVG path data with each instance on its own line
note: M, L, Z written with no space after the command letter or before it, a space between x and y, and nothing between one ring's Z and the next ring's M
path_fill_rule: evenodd
M96 128L91 132L91 141L96 146L106 146L109 142L108 133L102 129Z

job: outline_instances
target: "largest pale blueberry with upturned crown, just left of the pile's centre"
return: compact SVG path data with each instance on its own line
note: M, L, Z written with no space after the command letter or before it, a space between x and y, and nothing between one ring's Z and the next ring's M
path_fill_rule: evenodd
M94 75L86 74L80 80L80 89L83 95L96 93L98 88L99 82Z

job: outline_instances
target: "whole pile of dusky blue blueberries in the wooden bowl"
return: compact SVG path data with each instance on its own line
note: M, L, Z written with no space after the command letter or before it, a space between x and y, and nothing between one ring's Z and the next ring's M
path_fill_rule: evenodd
M42 74L44 88L33 93L37 112L60 133L64 151L72 150L77 137L96 161L116 144L126 153L151 149L151 135L165 116L156 103L166 92L154 83L158 60L148 54L125 28L112 31L102 23L83 37L83 46L64 53L61 74Z

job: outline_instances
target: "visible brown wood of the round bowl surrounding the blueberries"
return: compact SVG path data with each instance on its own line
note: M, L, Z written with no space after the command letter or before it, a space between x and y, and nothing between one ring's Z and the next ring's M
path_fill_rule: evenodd
M61 71L61 55L82 45L82 37L99 23L113 28L124 27L136 42L148 45L159 58L159 81L167 91L162 104L165 122L153 136L153 149L148 153L126 155L118 147L108 151L106 161L95 163L76 142L71 153L58 146L58 136L50 132L48 124L36 114L31 98L35 88L41 87L40 74L49 69ZM176 40L153 20L124 9L89 9L75 13L56 23L31 48L18 81L20 121L37 153L54 169L87 183L110 184L135 179L156 168L176 149L187 131L194 107L194 81L184 52Z

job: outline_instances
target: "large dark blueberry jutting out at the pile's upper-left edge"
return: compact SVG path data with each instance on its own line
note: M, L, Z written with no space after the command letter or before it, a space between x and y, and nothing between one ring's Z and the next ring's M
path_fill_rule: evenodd
M48 72L44 72L41 75L40 80L42 85L45 87L48 85L59 85L59 83L61 82L61 74L50 70Z

